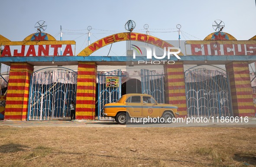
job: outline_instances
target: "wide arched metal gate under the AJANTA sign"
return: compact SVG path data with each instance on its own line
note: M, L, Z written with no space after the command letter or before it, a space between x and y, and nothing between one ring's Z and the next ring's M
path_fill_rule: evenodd
M70 103L75 102L76 88L77 72L68 68L34 72L31 74L28 120L70 119Z

